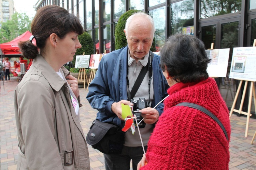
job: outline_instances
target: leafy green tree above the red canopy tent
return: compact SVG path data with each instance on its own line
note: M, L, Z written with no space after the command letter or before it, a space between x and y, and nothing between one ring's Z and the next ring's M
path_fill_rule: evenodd
M32 19L25 13L14 13L12 19L1 22L0 43L6 43L26 31L31 32Z

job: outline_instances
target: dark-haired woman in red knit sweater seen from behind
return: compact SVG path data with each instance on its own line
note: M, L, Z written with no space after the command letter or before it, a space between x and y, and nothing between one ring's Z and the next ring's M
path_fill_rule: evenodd
M138 169L228 169L229 111L206 71L210 60L203 42L195 36L175 34L160 55L170 96ZM197 109L175 106L181 102L208 109L224 125L228 140L214 119Z

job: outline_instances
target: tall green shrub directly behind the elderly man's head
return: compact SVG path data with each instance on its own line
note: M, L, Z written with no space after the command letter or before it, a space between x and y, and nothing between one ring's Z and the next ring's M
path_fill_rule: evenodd
M124 33L126 20L134 13L139 12L139 10L129 10L120 16L116 28L115 28L115 49L120 49L127 46L127 39ZM155 37L151 46L151 51L156 51Z

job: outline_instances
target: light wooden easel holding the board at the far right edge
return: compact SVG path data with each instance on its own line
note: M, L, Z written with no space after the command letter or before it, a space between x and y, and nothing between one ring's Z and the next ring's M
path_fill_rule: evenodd
M255 47L255 45L256 45L256 39L254 39L253 47ZM240 80L240 79L235 79L235 80ZM245 81L245 83L244 83L244 90L243 90L242 100L241 100L241 104L240 104L239 110L237 110L237 109L234 109L234 106L236 105L236 102L237 102L237 99L238 99L238 95L239 95L239 92L241 90L241 86L242 86L243 81ZM245 98L245 93L246 93L248 82L251 82L251 88L250 88L250 92L249 92L250 95L249 95L249 102L248 102L248 110L247 110L247 112L243 112L242 108L243 108L243 102L244 102L244 98ZM245 127L245 135L244 135L245 137L247 137L249 120L250 120L250 116L252 116L252 114L251 114L252 97L254 99L254 107L255 107L255 112L256 112L256 97L255 97L254 82L250 81L250 80L240 80L240 83L238 85L238 89L237 89L237 92L236 92L236 96L234 97L234 102L233 102L232 107L230 109L229 119L231 118L231 115L232 115L233 112L237 112L239 114L247 115L246 127ZM256 132L255 132L255 134L256 134ZM254 137L255 137L255 135L254 135ZM252 142L253 142L253 140L252 140Z

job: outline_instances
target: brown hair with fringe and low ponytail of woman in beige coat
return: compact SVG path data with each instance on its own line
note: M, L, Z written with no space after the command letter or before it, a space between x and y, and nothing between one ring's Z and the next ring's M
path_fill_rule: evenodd
M38 54L38 48L42 50L45 47L46 39L52 33L63 39L70 32L79 35L84 32L79 18L60 6L43 6L38 9L31 23L31 33L37 46L33 45L30 40L19 42L18 45L23 56L33 59Z

